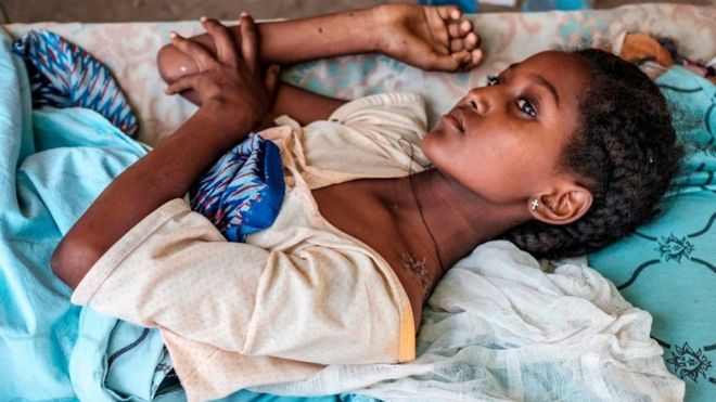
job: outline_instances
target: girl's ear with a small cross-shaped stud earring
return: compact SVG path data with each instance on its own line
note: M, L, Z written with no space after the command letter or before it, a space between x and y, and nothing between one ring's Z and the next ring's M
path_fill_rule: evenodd
M528 208L532 216L541 222L567 224L587 213L592 200L591 192L586 187L565 183L553 189L552 193L530 198Z

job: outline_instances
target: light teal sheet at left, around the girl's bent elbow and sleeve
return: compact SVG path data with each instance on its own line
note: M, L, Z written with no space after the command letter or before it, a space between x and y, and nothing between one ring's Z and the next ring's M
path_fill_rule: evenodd
M146 154L99 114L31 111L25 67L0 31L0 401L186 400L155 328L69 303L49 259L100 192ZM368 401L239 391L225 401Z

